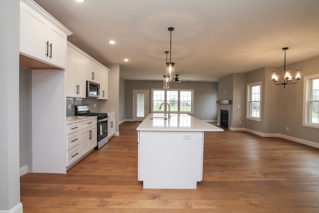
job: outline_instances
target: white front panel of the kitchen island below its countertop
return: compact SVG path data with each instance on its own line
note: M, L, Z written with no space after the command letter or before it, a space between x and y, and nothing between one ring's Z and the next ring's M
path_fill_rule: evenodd
M196 189L202 180L203 132L138 134L138 172L144 188Z

